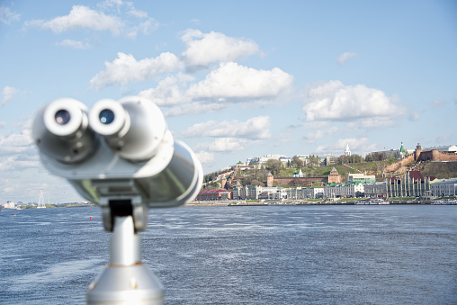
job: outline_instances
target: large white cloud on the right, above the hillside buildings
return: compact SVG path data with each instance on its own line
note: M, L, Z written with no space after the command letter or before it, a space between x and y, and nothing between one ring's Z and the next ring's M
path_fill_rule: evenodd
M393 103L381 90L365 85L344 85L329 81L309 88L303 107L306 121L362 121L370 125L390 126L394 118L404 115L403 107Z

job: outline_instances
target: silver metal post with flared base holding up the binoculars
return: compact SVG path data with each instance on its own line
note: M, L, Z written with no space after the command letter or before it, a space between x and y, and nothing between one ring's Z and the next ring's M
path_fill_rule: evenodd
M87 304L163 304L157 277L141 263L140 237L132 216L116 216L110 247L110 265L91 283Z

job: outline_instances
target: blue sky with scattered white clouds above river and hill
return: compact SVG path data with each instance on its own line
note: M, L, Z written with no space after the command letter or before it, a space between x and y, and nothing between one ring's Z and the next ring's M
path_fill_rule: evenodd
M457 2L0 0L0 202L81 202L31 121L157 103L205 174L248 157L457 144Z

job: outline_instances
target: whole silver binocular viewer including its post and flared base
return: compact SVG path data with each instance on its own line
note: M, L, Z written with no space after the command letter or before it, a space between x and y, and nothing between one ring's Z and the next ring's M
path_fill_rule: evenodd
M141 263L137 232L146 229L148 209L196 197L202 165L193 151L173 139L157 105L138 96L101 100L90 112L58 99L40 109L32 134L43 165L99 204L113 232L110 265L89 286L87 303L163 303L162 285Z

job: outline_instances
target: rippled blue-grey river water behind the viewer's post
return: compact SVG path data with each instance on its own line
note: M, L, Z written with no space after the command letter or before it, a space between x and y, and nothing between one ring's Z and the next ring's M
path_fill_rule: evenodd
M140 235L166 304L457 304L457 206L180 207ZM1 211L0 303L84 304L109 236L99 208Z

